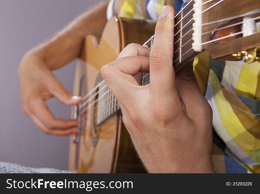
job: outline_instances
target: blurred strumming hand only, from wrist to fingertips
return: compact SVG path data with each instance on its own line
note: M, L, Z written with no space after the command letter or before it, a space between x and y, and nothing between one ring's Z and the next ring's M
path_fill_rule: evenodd
M72 96L43 61L25 56L19 67L20 97L23 111L47 134L65 136L78 131L77 120L55 119L45 100L55 96L66 105L76 105L80 97Z

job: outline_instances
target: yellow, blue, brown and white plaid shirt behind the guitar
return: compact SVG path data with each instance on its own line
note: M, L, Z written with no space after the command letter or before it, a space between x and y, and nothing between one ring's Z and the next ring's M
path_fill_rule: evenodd
M165 4L174 1L112 0L108 19L118 15L157 20ZM204 52L195 58L194 72L213 110L216 167L226 173L260 172L260 63L214 60Z

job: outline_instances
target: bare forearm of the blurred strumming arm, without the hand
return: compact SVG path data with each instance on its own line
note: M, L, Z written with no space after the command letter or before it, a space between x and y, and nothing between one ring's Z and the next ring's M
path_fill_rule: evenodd
M43 61L51 70L58 69L79 56L86 35L101 36L106 23L108 2L92 7L61 31L32 48L24 58ZM24 60L22 60L24 61Z

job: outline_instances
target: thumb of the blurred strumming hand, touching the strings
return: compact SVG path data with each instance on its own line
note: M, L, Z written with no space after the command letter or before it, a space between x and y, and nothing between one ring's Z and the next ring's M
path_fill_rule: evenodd
M68 92L61 83L58 83L56 87L53 87L51 93L65 105L77 105L81 102L82 97L75 96Z

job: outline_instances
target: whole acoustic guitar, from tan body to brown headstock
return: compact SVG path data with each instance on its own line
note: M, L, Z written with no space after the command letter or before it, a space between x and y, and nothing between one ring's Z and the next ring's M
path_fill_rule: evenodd
M178 71L204 50L215 59L260 61L259 19L259 0L190 1L175 15L174 69ZM79 132L71 137L69 170L146 172L100 69L116 60L129 43L152 47L154 28L152 21L113 17L101 38L86 36L75 72L74 94L82 96L82 102L71 111L71 117L79 121ZM145 84L149 74L143 74Z

